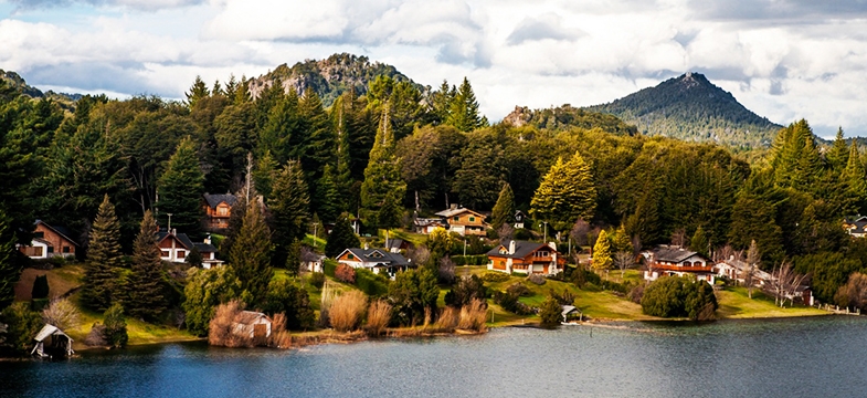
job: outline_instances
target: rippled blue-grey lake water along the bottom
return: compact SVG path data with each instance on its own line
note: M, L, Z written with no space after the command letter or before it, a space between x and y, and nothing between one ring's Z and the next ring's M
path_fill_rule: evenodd
M0 363L0 397L867 397L867 317L498 328Z

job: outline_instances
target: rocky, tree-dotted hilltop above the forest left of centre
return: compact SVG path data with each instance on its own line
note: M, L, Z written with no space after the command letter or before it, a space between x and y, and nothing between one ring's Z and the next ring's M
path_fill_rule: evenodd
M370 82L377 76L385 75L398 82L410 82L422 92L430 87L413 82L410 77L392 65L370 62L367 56L348 53L334 54L325 60L306 60L292 67L287 64L250 81L250 93L255 98L275 81L283 84L285 91L295 88L298 94L311 88L323 100L323 105L330 106L340 94L355 88L358 95L366 94Z

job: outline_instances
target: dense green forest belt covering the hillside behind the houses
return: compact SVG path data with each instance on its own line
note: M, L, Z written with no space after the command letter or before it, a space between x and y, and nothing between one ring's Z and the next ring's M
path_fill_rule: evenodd
M0 242L29 242L35 219L88 242L94 220L116 217L118 228L99 233L133 253L134 243L149 244L142 231L165 227L169 213L173 228L201 237L201 195L237 192L261 196L267 209L267 227L243 238L269 241L274 253L221 253L267 272L297 255L314 221L358 219L362 232L376 233L452 203L493 209L495 239L514 216L503 209L520 209L544 221L550 237L579 243L582 224L636 249L680 237L710 254L754 240L762 269L794 263L825 302L867 265L867 244L842 228L845 216L867 212L864 154L842 133L822 147L806 121L792 123L751 165L729 147L643 135L586 109L489 125L466 78L425 90L402 75L373 76L378 64L353 72L364 76L355 83L329 83L327 106L319 83L298 92L297 82L281 80L311 64L299 65L269 74L274 84L197 78L183 102L88 95L73 111L0 81ZM258 212L236 213L229 241L262 221ZM6 306L20 265L11 254L0 265ZM255 279L244 281L267 284ZM255 291L264 296L263 289Z

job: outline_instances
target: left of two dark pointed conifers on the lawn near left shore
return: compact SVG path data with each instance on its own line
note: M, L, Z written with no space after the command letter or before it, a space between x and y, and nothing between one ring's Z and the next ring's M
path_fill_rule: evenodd
M115 216L115 207L106 195L91 228L91 241L84 268L82 302L91 308L104 311L114 301L116 270L120 266L121 260L119 238L120 223Z

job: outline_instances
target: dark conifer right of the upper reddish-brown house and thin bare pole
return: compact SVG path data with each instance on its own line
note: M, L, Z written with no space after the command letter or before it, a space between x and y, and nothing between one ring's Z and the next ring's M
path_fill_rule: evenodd
M274 231L274 266L285 266L289 245L304 240L310 214L310 199L304 171L297 160L289 160L274 180L268 199Z

